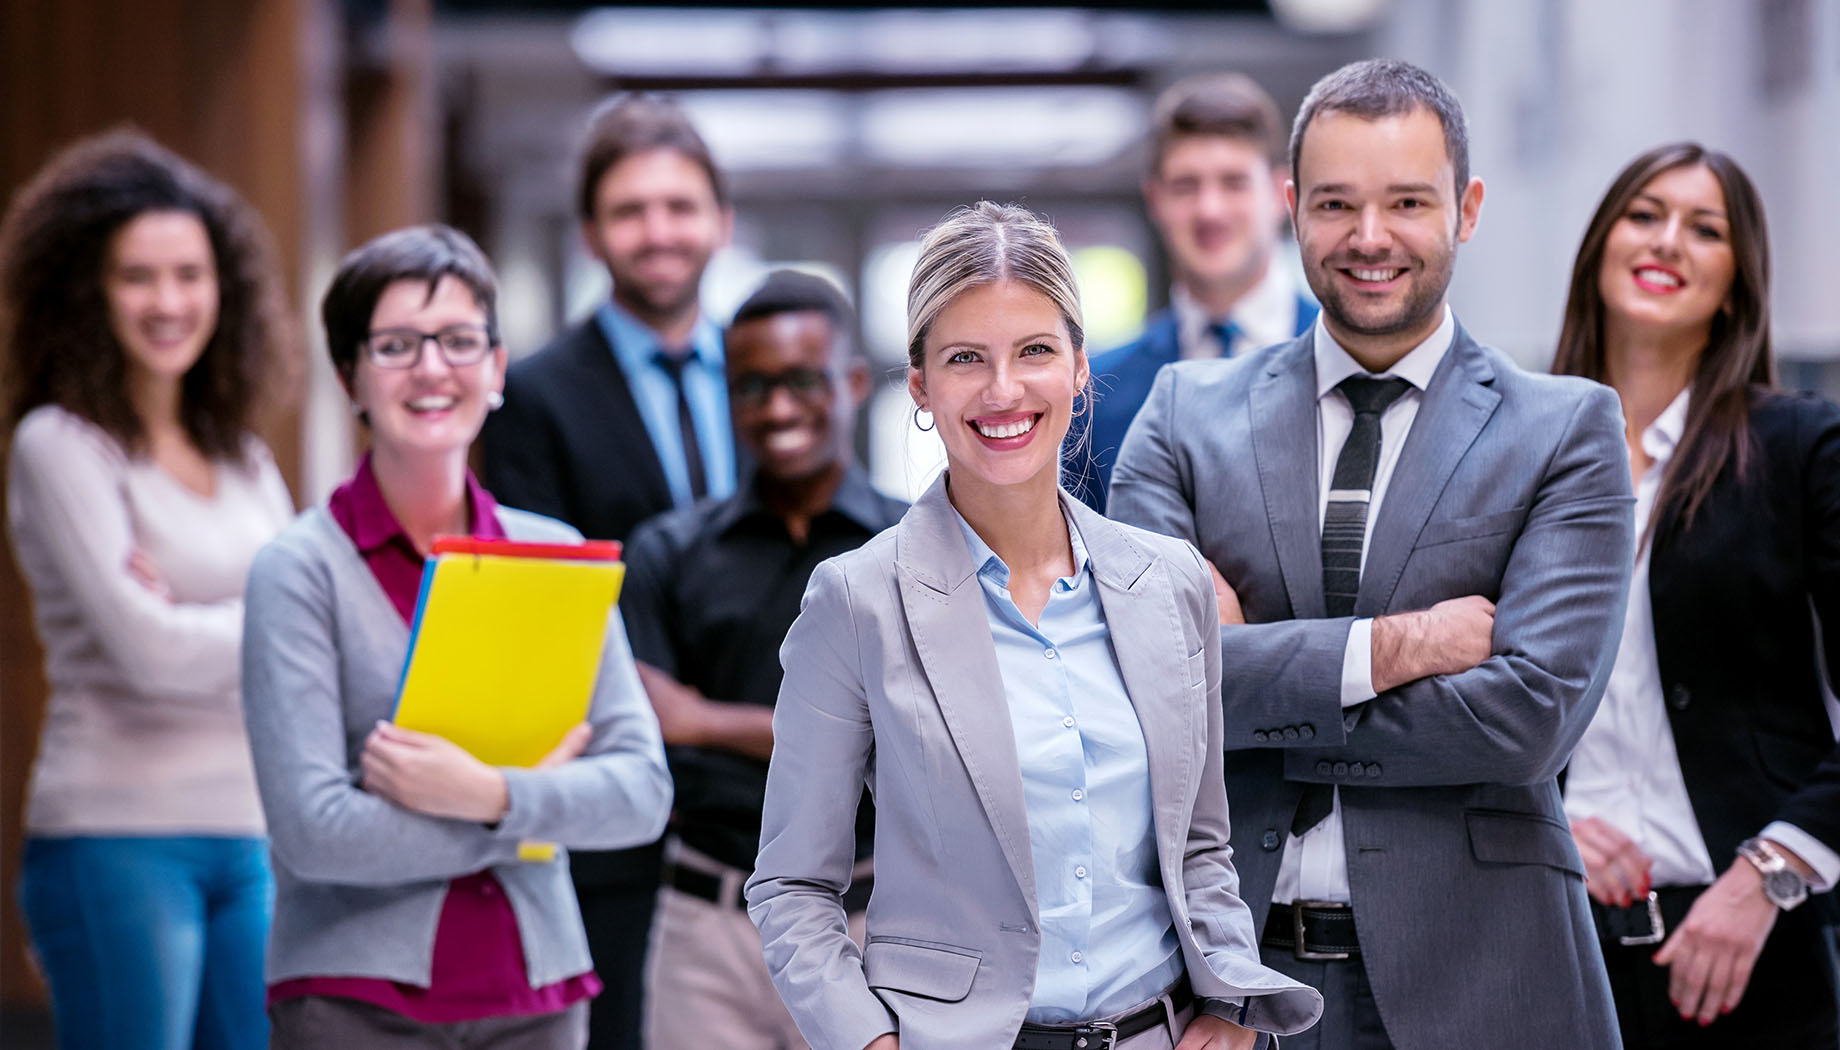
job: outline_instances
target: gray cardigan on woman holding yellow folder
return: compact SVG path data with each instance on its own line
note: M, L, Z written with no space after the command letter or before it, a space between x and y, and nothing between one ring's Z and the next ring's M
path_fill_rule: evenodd
M580 539L510 508L499 520L512 539ZM486 868L517 916L532 987L589 971L565 853L519 862L517 844L620 850L664 831L664 747L620 618L607 623L592 743L558 769L506 769L510 811L497 827L410 813L357 785L364 737L394 710L407 649L401 614L324 508L302 513L256 555L243 702L274 853L269 982L427 986L447 881Z

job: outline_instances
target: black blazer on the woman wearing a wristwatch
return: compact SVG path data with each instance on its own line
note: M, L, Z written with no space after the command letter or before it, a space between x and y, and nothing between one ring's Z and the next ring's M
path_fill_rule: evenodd
M1649 563L1662 695L1713 866L1770 820L1840 850L1840 748L1814 622L1840 675L1840 406L1755 390L1752 476L1728 469ZM1833 916L1834 903L1823 901Z

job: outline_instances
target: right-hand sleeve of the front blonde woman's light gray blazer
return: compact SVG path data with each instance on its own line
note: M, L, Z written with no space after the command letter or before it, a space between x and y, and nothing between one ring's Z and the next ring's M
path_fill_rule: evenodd
M1187 546L1187 544L1185 544ZM1187 587L1187 616L1207 653L1202 706L1207 712L1207 743L1202 752L1202 772L1196 782L1194 807L1189 815L1189 840L1181 855L1181 885L1189 905L1189 923L1196 945L1207 956L1207 967L1240 991L1244 1010L1225 1008L1222 1000L1203 1002L1203 1013L1213 1013L1259 1032L1290 1035L1303 1032L1323 1013L1323 997L1314 987L1286 980L1259 962L1259 936L1253 914L1240 899L1240 875L1233 870L1233 848L1227 820L1225 756L1222 754L1222 723L1225 715L1216 702L1220 695L1220 636L1214 633L1218 607L1214 585L1200 552L1187 546L1192 572ZM1174 565L1181 565L1176 561Z

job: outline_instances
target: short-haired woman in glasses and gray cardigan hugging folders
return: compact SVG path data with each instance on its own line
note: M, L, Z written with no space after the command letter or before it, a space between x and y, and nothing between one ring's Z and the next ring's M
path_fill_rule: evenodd
M467 471L504 384L493 300L484 254L447 226L377 237L326 292L328 351L372 447L256 557L243 649L280 1048L583 1046L600 982L569 868L521 861L519 842L615 850L664 827L659 726L618 616L587 723L535 769L388 721L436 535L580 539Z

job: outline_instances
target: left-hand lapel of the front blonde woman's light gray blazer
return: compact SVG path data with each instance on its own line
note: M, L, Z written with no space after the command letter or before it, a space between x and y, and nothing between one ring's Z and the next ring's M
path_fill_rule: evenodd
M997 669L997 645L990 638L984 590L977 583L977 566L972 565L955 511L946 500L944 474L896 528L894 565L900 570L902 609L914 651L959 748L959 759L1003 842L1003 855L1023 896L1034 901L1029 807L1023 802L1010 706Z

